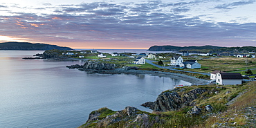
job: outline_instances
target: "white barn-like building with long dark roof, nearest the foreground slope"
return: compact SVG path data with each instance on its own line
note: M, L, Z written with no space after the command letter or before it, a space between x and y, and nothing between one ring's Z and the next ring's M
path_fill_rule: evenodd
M217 73L216 84L219 85L236 85L241 84L243 77L240 73Z

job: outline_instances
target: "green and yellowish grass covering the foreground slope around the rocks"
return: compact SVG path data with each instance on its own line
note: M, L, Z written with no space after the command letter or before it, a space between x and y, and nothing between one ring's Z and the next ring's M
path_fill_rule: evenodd
M136 116L127 116L126 111L111 111L103 108L97 112L101 113L98 120L86 122L82 127L254 127L256 111L256 82L248 82L239 86L185 86L176 89L176 92L188 93L192 89L207 89L205 93L192 101L194 104L185 106L178 111L153 112L137 111L136 115L147 114L145 120L140 120ZM234 102L232 102L234 100ZM193 106L201 108L201 113L190 115L188 111ZM205 111L206 105L212 106L212 112ZM248 109L249 108L249 109ZM95 112L95 111L93 111ZM93 113L92 112L92 113ZM111 114L116 114L114 122L102 122L101 119L111 120ZM120 114L121 113L121 114ZM109 116L109 118L106 118ZM135 119L134 119L135 118ZM112 121L113 121L112 120ZM99 125L104 124L104 125ZM147 122L147 125L145 125ZM154 122L154 123L153 123Z

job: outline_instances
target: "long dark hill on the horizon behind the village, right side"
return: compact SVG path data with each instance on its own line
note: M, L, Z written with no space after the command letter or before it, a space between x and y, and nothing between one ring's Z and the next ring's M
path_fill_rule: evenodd
M190 53L248 53L256 51L255 46L221 47L221 46L151 46L148 51L189 51Z

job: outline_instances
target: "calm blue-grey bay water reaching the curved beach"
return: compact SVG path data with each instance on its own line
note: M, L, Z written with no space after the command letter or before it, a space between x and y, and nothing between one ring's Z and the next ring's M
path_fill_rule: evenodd
M0 127L78 127L91 111L140 104L183 80L68 69L82 61L22 60L44 51L0 51Z

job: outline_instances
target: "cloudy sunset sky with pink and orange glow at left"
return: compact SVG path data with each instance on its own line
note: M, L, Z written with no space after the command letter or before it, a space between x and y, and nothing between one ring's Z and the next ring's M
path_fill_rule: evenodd
M0 1L0 43L256 46L256 0Z

